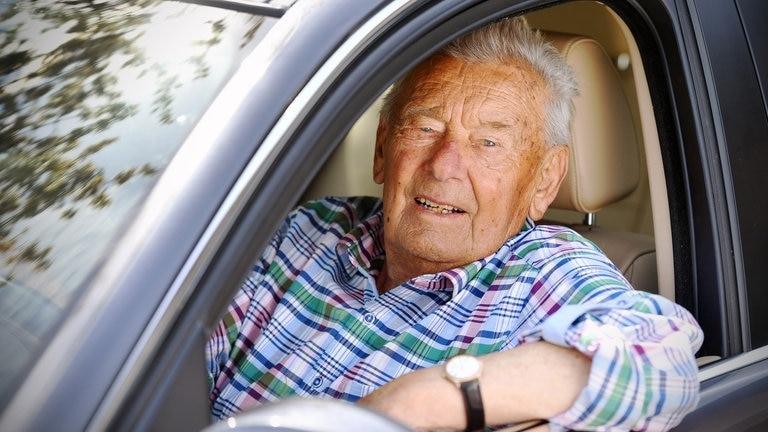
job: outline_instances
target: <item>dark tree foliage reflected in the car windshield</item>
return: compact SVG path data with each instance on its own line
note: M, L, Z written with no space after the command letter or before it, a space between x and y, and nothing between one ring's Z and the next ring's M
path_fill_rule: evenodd
M175 121L179 71L150 58L139 43L142 26L162 3L0 4L0 254L6 264L28 263L38 270L50 265L52 246L26 238L22 222L43 212L72 219L85 207L107 207L116 187L161 168L146 162L110 172L94 156L120 139L113 126L139 109L125 92L142 89L119 84L126 70L153 83L156 121ZM252 37L259 23L244 37ZM224 20L207 25L209 32L200 32L197 50L187 59L194 80L209 75L206 54L227 27Z

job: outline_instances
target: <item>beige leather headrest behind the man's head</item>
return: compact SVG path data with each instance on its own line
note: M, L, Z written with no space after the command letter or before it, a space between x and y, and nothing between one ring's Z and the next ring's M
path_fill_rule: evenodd
M580 90L574 101L570 167L551 207L594 213L638 185L632 113L613 63L595 40L543 33L575 69Z

